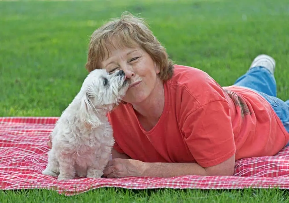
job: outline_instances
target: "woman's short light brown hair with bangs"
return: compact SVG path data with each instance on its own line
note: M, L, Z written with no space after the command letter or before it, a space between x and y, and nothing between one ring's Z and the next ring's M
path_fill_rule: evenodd
M166 49L161 45L143 18L134 17L124 12L121 18L114 18L95 30L88 46L88 59L86 69L91 72L99 69L101 61L108 55L108 47L140 46L159 66L159 77L162 81L170 79L173 75L173 62L169 59Z

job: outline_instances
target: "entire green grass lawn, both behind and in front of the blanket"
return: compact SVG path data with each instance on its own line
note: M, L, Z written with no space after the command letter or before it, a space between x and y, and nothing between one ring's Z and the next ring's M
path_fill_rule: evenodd
M288 0L0 1L0 116L60 116L86 77L90 34L123 11L139 13L177 64L231 85L260 54L277 62L289 98ZM281 202L286 191L96 189L74 197L0 191L0 202Z

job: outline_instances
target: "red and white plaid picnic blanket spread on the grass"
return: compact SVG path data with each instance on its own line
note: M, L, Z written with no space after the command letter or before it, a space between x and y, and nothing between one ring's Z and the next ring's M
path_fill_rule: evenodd
M49 149L46 142L57 120L57 117L0 117L0 189L55 189L65 195L75 195L99 187L289 189L289 147L272 157L236 161L234 176L57 180L41 174L47 165Z

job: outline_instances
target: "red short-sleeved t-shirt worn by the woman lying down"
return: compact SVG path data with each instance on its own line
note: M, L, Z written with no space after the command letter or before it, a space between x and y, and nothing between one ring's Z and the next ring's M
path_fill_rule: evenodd
M175 65L164 95L164 110L150 131L131 104L108 114L115 150L144 162L210 167L233 154L236 160L272 156L288 143L288 132L263 97L238 86L222 88L199 69Z

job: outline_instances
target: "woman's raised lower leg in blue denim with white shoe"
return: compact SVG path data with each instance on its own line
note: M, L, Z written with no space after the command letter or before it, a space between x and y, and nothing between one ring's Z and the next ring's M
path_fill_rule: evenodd
M268 55L257 56L249 70L239 77L234 85L249 87L270 96L277 96L274 77L275 60Z

